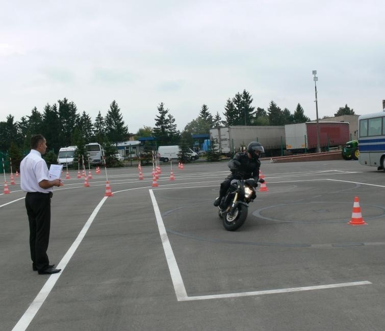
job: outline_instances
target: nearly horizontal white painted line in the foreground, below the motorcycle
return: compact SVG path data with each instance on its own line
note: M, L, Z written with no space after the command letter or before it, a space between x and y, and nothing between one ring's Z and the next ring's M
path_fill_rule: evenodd
M369 284L372 284L372 283L370 283L368 281L363 281L363 282L327 284L327 285L306 286L306 287L293 287L293 288L278 289L278 290L265 290L265 291L240 292L240 293L228 293L228 294L187 296L185 298L182 298L179 301L236 298L236 297L252 296L252 295L264 295L264 294L277 294L277 293L288 293L288 292L300 292L300 291L335 289L335 288L338 288L338 287L359 286L359 285L369 285Z

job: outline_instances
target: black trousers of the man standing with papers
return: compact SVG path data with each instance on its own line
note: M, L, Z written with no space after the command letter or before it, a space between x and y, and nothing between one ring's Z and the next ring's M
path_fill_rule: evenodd
M47 256L49 230L51 223L51 197L52 194L28 192L25 196L30 223L30 250L32 264L40 271L48 268Z

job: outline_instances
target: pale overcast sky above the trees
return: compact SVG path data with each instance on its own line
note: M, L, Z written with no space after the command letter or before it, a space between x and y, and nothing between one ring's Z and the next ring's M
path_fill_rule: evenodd
M385 99L385 2L2 0L0 69L0 121L64 97L94 120L115 99L132 133L161 102L183 130L243 89L315 119L312 70L320 118L367 114Z

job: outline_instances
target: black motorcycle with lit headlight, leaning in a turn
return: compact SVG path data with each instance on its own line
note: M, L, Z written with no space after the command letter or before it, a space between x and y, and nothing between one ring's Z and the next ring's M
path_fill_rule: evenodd
M263 179L258 182L264 183ZM257 183L253 179L234 179L218 206L218 215L227 231L236 231L247 218L249 202L256 198Z

